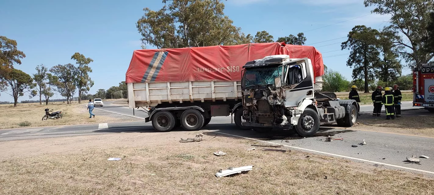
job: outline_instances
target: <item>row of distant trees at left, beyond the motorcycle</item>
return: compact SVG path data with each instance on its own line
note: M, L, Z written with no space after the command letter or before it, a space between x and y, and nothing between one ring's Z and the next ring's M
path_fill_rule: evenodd
M93 60L79 52L71 56L77 66L68 63L48 69L41 64L36 66L36 74L29 75L13 66L20 65L20 59L26 57L24 52L17 49L15 40L0 36L0 51L0 91L13 97L14 107L18 103L18 98L26 93L29 94L29 98L39 95L40 105L44 97L47 105L55 91L66 97L67 104L71 104L73 95L78 91L81 103L82 94L87 93L93 86L93 81L89 77L89 73L92 72L89 63Z

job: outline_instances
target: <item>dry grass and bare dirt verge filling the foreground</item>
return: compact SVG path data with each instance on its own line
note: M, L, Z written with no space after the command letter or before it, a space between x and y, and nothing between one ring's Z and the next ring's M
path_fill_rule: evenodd
M250 141L220 137L178 143L194 133L122 133L1 142L0 192L18 194L345 194L434 193L424 175L298 151L247 151ZM41 144L44 143L44 144ZM14 149L11 146L16 146ZM226 156L214 156L222 150ZM309 155L309 157L307 157ZM122 157L121 161L107 161ZM216 178L218 169L253 170ZM327 179L325 179L327 176Z

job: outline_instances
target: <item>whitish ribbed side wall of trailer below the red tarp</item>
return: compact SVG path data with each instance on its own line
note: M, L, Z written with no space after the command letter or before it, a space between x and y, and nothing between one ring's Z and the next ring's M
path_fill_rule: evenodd
M156 106L164 102L237 101L241 81L186 81L128 83L129 107Z

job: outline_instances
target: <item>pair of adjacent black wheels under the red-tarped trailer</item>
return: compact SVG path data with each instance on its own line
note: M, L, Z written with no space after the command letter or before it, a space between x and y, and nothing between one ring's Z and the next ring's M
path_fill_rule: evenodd
M205 119L204 115L196 109L185 110L178 120L169 111L158 111L152 116L152 126L158 132L168 132L174 127L182 126L184 130L200 130L211 119ZM206 123L207 122L207 123Z

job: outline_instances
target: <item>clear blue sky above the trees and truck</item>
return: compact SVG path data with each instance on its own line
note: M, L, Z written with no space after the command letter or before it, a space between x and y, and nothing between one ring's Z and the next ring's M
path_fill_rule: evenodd
M335 51L340 49L340 42L345 41L342 37L355 25L380 29L388 21L387 16L370 14L372 8L365 8L363 0L223 2L225 14L246 34L266 30L276 40L280 36L305 32L306 45L317 47L323 53L325 65L340 71L348 80L352 75L352 69L346 66L349 51ZM90 93L94 94L100 88L108 89L125 80L133 50L141 49L141 36L135 23L143 15L144 7L158 10L162 5L161 0L2 0L0 35L18 42L18 49L26 58L15 68L30 75L39 64L49 68L74 64L70 58L75 52L92 58L90 76L95 84ZM367 14L370 15L365 16ZM343 22L345 20L349 21ZM322 26L327 27L316 29ZM336 40L327 41L330 39ZM57 94L53 98L62 97ZM19 101L27 99L25 95ZM0 101L13 99L1 92Z

